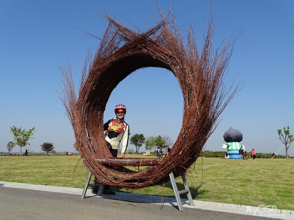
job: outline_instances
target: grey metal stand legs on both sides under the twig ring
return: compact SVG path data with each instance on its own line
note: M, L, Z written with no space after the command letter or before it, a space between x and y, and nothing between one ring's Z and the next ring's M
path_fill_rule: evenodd
M88 176L87 176L87 179L86 179L86 183L85 183L85 186L84 186L84 189L83 189L83 192L82 192L81 199L84 199L85 198L87 189L90 186L99 185L100 187L99 187L99 190L98 190L98 195L101 196L101 194L102 194L102 191L104 189L104 185L96 184L96 183L91 183L90 184L91 177L92 177L92 173L91 173L91 171L89 171ZM190 206L194 206L194 202L193 202L193 198L192 198L192 195L191 195L191 192L190 192L190 189L189 189L188 182L187 182L187 179L186 179L185 174L182 173L181 174L181 177L182 177L182 180L183 180L183 184L184 184L185 189L179 191L178 190L178 187L177 187L177 184L176 184L175 177L173 175L173 172L170 172L169 173L169 178L171 180L171 185L173 187L173 192L175 194L176 201L177 201L177 204L178 204L178 209L180 211L184 211L180 194L183 194L183 193L186 193L187 194L187 197L188 197Z

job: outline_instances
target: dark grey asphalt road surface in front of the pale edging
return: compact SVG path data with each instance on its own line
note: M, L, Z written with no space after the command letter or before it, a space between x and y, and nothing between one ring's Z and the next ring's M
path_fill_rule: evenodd
M273 220L272 218L220 211L176 207L159 204L118 201L31 189L0 187L0 219L2 220L180 220L180 219L240 219Z

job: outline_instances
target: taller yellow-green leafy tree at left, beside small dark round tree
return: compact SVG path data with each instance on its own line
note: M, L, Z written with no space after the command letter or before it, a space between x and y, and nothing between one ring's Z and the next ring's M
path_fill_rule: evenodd
M31 136L34 135L35 131L36 131L35 127L33 127L32 129L29 129L28 131L26 131L26 129L21 130L21 127L20 128L16 128L15 126L10 127L10 133L12 133L14 136L14 144L17 144L20 147L20 155L21 155L21 148L25 147L27 144L30 145L28 141L30 138L33 138Z

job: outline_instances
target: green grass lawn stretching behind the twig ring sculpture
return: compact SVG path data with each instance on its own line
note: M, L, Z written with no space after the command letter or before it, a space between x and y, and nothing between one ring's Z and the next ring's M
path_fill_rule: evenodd
M0 157L0 181L83 188L88 169L79 159L79 156ZM187 173L187 180L196 200L276 205L277 209L294 210L293 167L293 159L198 158L195 168L192 166ZM183 189L181 178L177 182L179 190ZM174 197L170 183L164 187L115 191ZM181 197L184 198L183 194Z

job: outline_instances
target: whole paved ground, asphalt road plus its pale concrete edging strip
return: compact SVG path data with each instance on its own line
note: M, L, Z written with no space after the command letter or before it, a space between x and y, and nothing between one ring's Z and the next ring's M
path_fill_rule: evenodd
M194 206L190 206L188 200L182 199L184 211L178 211L175 198L123 192L117 192L114 196L98 196L89 188L85 199L81 199L82 191L83 189L69 187L0 181L0 219L78 219L78 216L87 220L100 219L99 216L119 220L294 219L294 211L290 210L199 200L193 200ZM162 205L163 208L160 209ZM4 212L7 214L5 217ZM34 218L31 214L34 214Z

